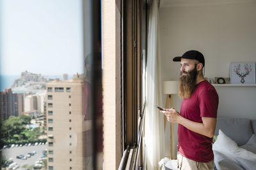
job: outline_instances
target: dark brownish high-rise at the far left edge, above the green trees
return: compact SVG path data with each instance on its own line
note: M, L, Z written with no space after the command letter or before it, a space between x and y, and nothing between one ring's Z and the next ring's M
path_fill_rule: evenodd
M0 92L0 117L2 120L10 116L19 116L24 111L23 94L13 94L11 88L6 88Z

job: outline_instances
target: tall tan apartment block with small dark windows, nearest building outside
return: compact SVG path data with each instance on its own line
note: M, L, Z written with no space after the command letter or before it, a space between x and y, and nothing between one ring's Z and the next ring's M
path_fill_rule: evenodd
M83 169L83 79L46 84L47 169Z

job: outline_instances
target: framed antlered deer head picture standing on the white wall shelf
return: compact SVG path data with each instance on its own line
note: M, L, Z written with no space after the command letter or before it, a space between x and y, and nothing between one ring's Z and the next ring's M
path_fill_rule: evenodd
M255 62L231 62L231 84L255 84Z

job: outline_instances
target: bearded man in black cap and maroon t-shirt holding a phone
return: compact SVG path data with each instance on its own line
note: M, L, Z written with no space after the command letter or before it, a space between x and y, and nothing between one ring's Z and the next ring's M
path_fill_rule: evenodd
M175 108L161 111L178 127L178 169L214 169L212 138L216 127L219 97L204 78L204 55L190 50L180 61L179 96L183 98L180 113Z

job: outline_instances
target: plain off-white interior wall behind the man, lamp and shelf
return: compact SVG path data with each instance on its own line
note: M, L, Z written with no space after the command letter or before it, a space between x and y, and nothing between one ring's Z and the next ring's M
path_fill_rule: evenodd
M204 53L208 78L229 77L230 62L256 62L256 1L169 6L159 17L163 80L179 80L179 62L172 58L192 49ZM218 117L256 119L256 87L216 90ZM181 100L174 99L179 110Z

